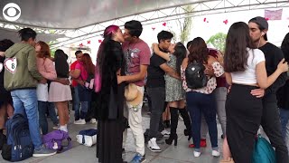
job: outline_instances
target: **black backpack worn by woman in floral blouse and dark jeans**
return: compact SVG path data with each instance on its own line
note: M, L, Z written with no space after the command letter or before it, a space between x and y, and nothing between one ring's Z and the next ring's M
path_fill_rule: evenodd
M190 89L205 87L208 77L205 74L205 66L200 62L190 62L185 70L187 86Z

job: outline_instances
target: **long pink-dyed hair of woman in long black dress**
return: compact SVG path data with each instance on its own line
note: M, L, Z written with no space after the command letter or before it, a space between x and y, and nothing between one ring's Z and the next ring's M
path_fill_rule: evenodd
M103 66L103 61L106 56L106 51L107 51L107 43L109 40L112 39L113 33L117 33L117 30L119 27L117 25L109 25L105 29L103 33L104 40L103 42L99 45L98 49L98 60L97 60L97 66L96 66L96 71L101 74L102 73L102 66Z

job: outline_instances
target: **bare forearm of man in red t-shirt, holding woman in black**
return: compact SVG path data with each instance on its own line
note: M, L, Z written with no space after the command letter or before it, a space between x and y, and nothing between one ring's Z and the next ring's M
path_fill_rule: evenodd
M121 82L137 82L144 80L146 75L147 65L140 65L140 72L133 75L117 76L118 83Z

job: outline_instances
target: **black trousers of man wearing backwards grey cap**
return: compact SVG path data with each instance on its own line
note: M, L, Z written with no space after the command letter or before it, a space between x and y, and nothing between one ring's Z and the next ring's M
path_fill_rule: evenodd
M277 101L264 99L261 125L273 147L275 147L277 163L288 163L288 149L281 132Z

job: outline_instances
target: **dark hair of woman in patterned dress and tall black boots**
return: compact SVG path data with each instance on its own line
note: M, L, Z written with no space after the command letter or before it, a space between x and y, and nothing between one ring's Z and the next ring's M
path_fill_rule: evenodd
M177 62L176 62L176 72L181 73L181 65L182 60L186 57L187 49L184 47L182 43L176 43L174 46L174 53L173 55L176 56Z

